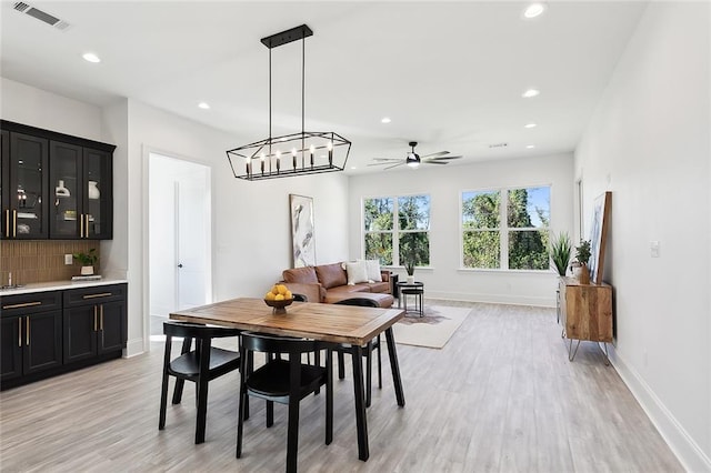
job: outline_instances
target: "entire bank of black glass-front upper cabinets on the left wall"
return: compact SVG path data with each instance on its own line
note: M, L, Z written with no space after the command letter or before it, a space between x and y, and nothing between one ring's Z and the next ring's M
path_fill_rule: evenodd
M0 120L0 239L113 238L112 144Z

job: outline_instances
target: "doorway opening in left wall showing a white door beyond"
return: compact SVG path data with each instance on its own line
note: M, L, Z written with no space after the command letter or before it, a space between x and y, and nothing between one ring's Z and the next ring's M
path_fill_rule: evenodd
M211 299L210 168L149 153L151 335L170 312Z

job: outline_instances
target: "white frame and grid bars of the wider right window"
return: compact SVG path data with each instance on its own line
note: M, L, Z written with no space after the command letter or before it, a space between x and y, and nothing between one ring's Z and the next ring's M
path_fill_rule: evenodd
M509 191L517 189L538 189L538 188L548 188L549 190L549 214L548 214L548 227L509 227L508 219L508 208L509 208ZM477 193L491 193L499 192L499 268L469 268L464 265L464 232L472 231L472 229L464 229L464 194L469 192ZM532 269L510 269L509 268L509 232L511 231L548 231L548 235L550 239L551 235L551 220L552 220L552 195L553 195L553 184L552 183L543 183L543 184L528 184L528 185L502 185L502 187L491 187L491 188L479 188L479 189L464 189L459 192L459 269L460 271L481 271L481 272L518 272L518 273L548 273L551 271L550 266L541 270L532 270ZM494 231L495 229L475 229L473 231ZM550 240L549 240L550 241ZM550 248L548 249L548 254L550 259Z

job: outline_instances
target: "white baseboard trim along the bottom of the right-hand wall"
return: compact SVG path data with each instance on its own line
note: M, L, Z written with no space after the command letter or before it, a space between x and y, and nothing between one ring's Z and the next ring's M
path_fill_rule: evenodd
M711 459L669 412L642 376L619 356L613 346L608 346L611 348L610 362L683 467L689 472L711 472Z

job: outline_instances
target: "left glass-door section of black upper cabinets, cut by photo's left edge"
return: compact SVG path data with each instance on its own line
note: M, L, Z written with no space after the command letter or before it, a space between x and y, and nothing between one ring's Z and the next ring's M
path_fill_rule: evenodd
M38 240L47 229L46 139L2 131L2 238Z

